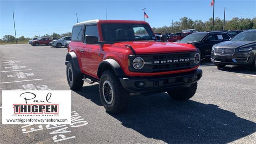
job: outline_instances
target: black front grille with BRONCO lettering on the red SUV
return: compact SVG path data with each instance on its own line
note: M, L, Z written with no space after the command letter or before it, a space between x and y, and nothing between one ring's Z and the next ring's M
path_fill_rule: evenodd
M198 64L194 63L194 54L196 52L181 52L181 53L169 53L169 54L147 54L130 56L131 72L166 72L172 70L183 70L192 68ZM132 66L132 60L136 57L141 57L145 62L152 62L151 64L145 64L140 70L136 70ZM172 60L170 62L170 60ZM178 60L178 61L174 61ZM169 61L169 62L168 62ZM158 63L155 63L158 62Z

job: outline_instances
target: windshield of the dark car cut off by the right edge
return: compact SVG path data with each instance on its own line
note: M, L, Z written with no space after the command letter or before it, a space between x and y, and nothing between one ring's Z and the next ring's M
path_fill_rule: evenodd
M255 30L251 32L241 32L238 35L234 36L234 38L232 38L230 41L256 41L256 32Z

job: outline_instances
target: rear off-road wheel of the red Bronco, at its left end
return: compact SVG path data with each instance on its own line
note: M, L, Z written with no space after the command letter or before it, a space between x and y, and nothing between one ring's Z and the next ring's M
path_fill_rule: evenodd
M74 64L72 62L68 62L66 74L70 89L79 90L83 87L84 81L82 80L82 73L74 68Z

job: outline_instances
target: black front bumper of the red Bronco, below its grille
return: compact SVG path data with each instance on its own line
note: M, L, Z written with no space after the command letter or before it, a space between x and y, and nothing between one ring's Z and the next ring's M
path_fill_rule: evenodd
M198 78L196 78L198 76ZM197 82L202 77L202 70L196 69L192 72L168 74L162 76L147 77L120 77L120 82L124 89L130 93L143 92L166 92L172 88L188 87ZM140 84L144 85L141 86Z

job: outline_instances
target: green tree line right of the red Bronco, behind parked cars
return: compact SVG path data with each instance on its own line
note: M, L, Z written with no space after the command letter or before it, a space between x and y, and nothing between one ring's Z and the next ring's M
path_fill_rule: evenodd
M214 19L214 30L223 30L224 20L219 17ZM212 18L208 21L203 22L202 20L191 20L190 18L183 17L180 21L170 23L170 26L163 26L159 28L152 28L154 32L170 33L170 32L181 32L185 29L196 29L198 31L212 30ZM237 18L234 17L232 20L225 20L224 30L248 30L256 29L256 18Z

